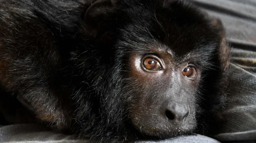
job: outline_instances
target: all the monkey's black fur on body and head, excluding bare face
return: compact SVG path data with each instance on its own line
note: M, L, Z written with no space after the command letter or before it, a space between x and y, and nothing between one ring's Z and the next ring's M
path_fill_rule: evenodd
M127 59L160 43L173 47L176 61L188 53L200 57L196 62L204 70L193 131L213 130L227 94L229 51L220 48L226 47L222 29L193 6L173 0L117 1L86 25L91 3L0 0L2 86L55 129L102 141L140 137L127 103L142 91L130 81ZM96 36L88 29L95 25Z

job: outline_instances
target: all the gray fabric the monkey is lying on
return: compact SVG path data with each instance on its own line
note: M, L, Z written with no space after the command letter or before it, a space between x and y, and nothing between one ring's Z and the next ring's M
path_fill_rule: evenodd
M215 138L245 140L256 137L256 0L189 0L219 17L231 43L231 94L224 113L227 123ZM80 143L70 136L44 131L34 125L11 125L0 128L0 142ZM143 141L141 141L142 143ZM178 137L159 142L216 142L204 136ZM147 142L153 143L153 142Z

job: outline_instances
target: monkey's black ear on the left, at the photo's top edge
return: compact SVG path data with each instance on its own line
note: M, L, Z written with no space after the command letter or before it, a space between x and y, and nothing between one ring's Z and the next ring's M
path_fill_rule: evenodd
M89 6L84 15L84 22L90 36L96 37L108 13L114 9L115 3L116 0L96 0Z

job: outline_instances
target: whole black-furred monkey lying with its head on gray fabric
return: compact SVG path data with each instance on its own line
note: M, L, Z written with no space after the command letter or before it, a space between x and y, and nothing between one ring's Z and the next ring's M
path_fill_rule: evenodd
M228 65L221 22L187 2L0 0L1 86L58 131L212 134Z

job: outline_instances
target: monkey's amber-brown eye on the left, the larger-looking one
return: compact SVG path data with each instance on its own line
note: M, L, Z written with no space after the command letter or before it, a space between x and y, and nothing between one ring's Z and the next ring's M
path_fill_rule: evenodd
M147 70L157 71L160 68L160 63L155 58L147 57L143 60L143 66Z

